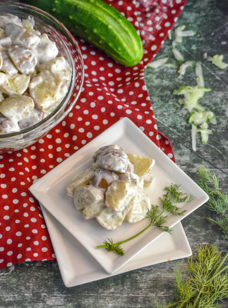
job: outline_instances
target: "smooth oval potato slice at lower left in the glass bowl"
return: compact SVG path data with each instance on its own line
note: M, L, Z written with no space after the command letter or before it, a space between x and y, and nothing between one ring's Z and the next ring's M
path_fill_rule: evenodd
M11 96L0 103L0 112L7 118L17 121L28 117L34 108L34 101L29 96Z

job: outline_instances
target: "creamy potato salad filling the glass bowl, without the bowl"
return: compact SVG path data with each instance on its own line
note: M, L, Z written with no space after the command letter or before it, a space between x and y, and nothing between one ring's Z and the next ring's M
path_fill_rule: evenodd
M71 68L34 26L30 16L0 15L0 134L38 123L67 93Z

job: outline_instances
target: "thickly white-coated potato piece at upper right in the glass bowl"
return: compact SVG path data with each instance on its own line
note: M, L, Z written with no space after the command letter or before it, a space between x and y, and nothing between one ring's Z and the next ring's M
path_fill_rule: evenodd
M55 59L58 55L58 48L56 47L55 42L51 41L45 33L39 37L34 48L37 54L38 65Z

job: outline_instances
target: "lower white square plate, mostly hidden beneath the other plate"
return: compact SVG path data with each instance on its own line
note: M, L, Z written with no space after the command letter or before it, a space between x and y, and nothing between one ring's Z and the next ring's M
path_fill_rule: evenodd
M43 206L46 226L51 237L58 267L66 287L108 278L157 263L189 257L190 245L180 222L173 227L172 235L162 234L115 274L107 274L86 249ZM77 260L77 261L75 261Z

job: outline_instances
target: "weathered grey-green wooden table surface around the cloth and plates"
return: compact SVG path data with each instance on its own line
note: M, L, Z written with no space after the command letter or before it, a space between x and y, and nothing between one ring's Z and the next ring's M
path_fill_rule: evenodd
M202 105L214 111L218 124L214 125L214 135L208 144L197 140L197 151L191 148L190 125L187 123L188 111L177 103L177 96L172 91L181 85L195 85L193 68L188 68L186 75L178 78L177 71L160 67L156 70L147 68L145 79L152 100L158 129L169 137L177 164L193 180L200 164L216 173L220 186L227 191L227 101L228 68L221 70L203 60L203 53L208 55L224 54L228 62L228 2L226 0L189 0L178 25L186 25L187 30L195 30L194 37L184 38L182 52L186 60L202 61L205 87L213 89L203 97ZM165 41L157 55L158 58L170 56L171 41ZM221 229L207 221L210 211L201 206L194 213L182 220L182 225L193 254L198 246L215 243L224 255L226 241ZM181 271L187 259L178 260ZM56 261L27 262L0 271L0 308L43 308L43 307L100 307L100 308L147 308L154 307L153 298L157 294L162 302L173 294L176 261L120 274L114 277L66 288ZM228 307L228 300L221 304Z

